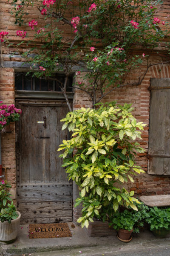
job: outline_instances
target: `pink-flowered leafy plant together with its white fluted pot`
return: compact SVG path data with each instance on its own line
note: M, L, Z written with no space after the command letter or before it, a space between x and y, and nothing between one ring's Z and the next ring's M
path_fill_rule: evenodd
M21 217L10 198L9 188L11 185L6 180L0 182L0 242L5 244L15 241Z

